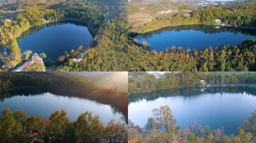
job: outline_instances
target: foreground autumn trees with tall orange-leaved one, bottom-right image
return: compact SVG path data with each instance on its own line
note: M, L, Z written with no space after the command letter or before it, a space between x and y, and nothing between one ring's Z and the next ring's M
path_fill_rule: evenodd
M210 127L202 127L197 122L182 131L176 126L177 120L168 105L155 108L152 113L145 127L129 121L129 143L249 143L256 140L256 111L243 122L237 136L225 135L220 128L211 130Z

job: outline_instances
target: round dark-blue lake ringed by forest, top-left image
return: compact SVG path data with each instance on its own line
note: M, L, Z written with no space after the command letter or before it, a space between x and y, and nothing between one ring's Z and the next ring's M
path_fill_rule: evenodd
M76 50L80 45L88 48L91 40L86 24L71 20L34 26L17 38L22 53L26 50L45 53L52 60L57 60L65 51Z

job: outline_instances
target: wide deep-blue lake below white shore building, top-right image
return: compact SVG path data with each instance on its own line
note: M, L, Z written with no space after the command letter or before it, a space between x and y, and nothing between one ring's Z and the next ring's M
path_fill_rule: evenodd
M181 25L158 29L137 35L138 42L146 41L156 51L164 51L168 47L183 47L203 50L210 46L214 49L221 45L238 45L245 39L256 38L256 30L240 29L234 27L221 27L207 25Z

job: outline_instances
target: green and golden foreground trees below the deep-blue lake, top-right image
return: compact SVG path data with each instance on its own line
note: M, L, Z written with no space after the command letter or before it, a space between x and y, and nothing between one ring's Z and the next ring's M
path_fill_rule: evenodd
M129 40L129 71L255 71L256 40L247 39L237 46L222 45L214 50L183 50L171 47L163 52L149 51ZM140 51L138 51L140 50Z

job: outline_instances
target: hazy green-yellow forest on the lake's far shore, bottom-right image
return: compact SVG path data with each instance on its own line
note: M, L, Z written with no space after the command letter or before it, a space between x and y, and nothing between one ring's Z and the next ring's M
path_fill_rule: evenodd
M200 80L208 84L255 84L255 72L169 72L160 79L146 72L129 72L128 92L150 92L161 89L201 87Z

